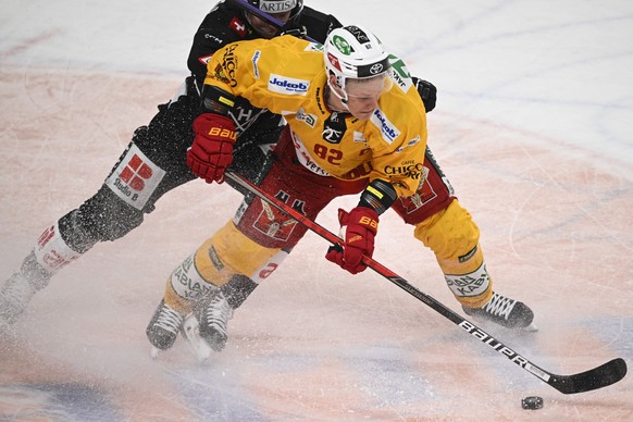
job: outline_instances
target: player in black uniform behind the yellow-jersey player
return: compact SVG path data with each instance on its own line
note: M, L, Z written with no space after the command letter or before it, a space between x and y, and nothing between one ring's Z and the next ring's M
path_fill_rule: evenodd
M199 113L206 63L219 48L243 39L270 38L282 32L307 34L324 41L330 30L342 26L334 16L305 7L302 0L248 2L274 11L274 17L285 22L284 27L266 24L232 0L221 1L204 16L187 62L191 75L171 101L158 107L148 125L135 131L99 190L48 226L21 268L2 283L0 324L14 322L33 296L61 269L96 244L116 240L138 227L163 195L196 178L187 167L186 152L194 140L191 123ZM232 117L238 132L232 170L253 179L266 149L278 138L281 116L239 101Z

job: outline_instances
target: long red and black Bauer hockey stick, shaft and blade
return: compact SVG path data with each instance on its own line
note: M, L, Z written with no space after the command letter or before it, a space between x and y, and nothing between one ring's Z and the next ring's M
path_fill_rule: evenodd
M327 231L319 223L308 219L306 215L301 214L294 208L288 207L286 203L280 201L272 195L263 191L259 186L252 184L251 182L234 174L226 172L226 177L237 183L241 187L249 190L251 194L258 196L262 200L273 204L281 211L291 216L299 223L307 226L310 231L314 232L319 236L323 237L325 240L333 245L340 245L340 238L334 235L332 232ZM493 349L504 355L506 358L510 359L512 362L523 368L525 371L530 372L537 378L551 385L554 388L558 389L562 394L575 394L591 392L593 389L598 389L606 387L608 385L615 384L622 380L626 375L626 362L623 359L617 358L607 363L604 363L597 368L591 369L585 372L581 372L572 375L557 375L551 372L547 372L534 363L530 362L523 356L519 355L510 347L504 345L501 342L473 324L472 322L466 320L460 314L454 312L433 297L420 291L417 287L412 286L405 278L400 277L386 266L382 265L377 261L371 258L363 257L363 263L369 268L374 270L376 273L387 278L389 282L394 283L414 298L423 301L434 311L444 315L446 319L450 320L456 325L460 326L467 333L477 338L480 342L491 346Z

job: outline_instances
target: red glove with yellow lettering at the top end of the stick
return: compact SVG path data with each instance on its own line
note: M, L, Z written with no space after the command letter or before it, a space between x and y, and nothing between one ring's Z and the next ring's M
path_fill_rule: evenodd
M203 113L194 121L194 145L187 150L191 173L207 183L224 182L224 171L233 162L235 123L224 115Z

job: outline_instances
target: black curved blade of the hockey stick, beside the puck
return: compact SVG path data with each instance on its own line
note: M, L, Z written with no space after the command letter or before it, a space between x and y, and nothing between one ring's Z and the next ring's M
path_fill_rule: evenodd
M563 394L591 392L617 383L626 375L626 362L617 358L597 368L573 375L555 375L547 384Z

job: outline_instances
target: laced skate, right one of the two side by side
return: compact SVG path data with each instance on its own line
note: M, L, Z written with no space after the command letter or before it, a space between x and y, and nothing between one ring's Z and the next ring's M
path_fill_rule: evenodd
M228 335L226 326L233 318L233 308L221 290L211 291L194 306L194 315L198 320L200 337L209 346L221 351L226 344Z

